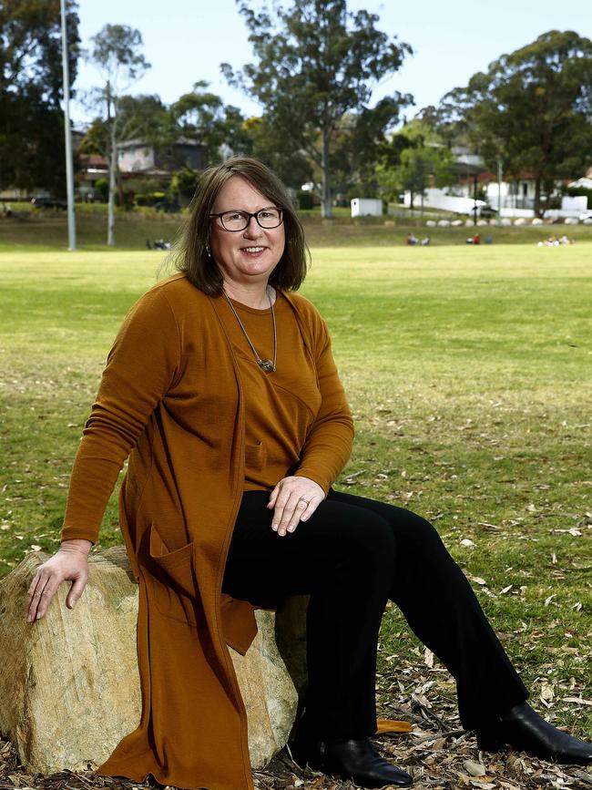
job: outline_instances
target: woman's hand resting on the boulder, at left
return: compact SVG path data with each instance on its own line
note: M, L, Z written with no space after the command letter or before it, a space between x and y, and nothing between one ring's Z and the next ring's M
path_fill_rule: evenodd
M60 548L40 565L28 589L26 620L33 622L42 618L62 581L74 583L66 596L66 606L72 609L82 595L88 579L88 552L90 540L63 540Z

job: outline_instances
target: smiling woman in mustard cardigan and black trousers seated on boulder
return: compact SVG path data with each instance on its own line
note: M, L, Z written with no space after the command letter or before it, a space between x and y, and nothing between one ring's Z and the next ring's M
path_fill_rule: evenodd
M586 763L592 747L526 704L526 689L434 528L336 492L352 416L325 323L297 295L306 247L268 169L230 159L199 184L180 273L132 308L77 453L57 554L29 589L42 617L62 580L73 606L125 459L120 523L139 582L142 716L102 775L251 788L246 713L228 645L255 608L311 595L302 762L364 787L410 785L377 754L378 632L387 600L453 672L482 748Z

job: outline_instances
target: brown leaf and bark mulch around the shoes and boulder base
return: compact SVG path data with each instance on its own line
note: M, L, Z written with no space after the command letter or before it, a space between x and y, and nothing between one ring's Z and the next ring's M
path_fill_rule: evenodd
M396 658L391 670L389 659ZM383 757L413 775L413 790L542 790L578 788L592 790L592 765L557 765L536 760L510 749L488 754L477 747L475 735L465 732L458 717L452 677L425 650L424 661L387 657L386 671L376 675L376 705L383 719L413 725L410 734L383 734L373 744ZM540 701L531 701L534 707ZM541 703L542 704L542 703ZM557 725L561 707L546 703L545 717ZM29 775L13 746L0 740L0 790L154 790L155 782L138 784L122 778L86 771L60 771L48 776ZM152 777L148 777L152 779ZM357 790L359 785L302 770L286 747L262 771L253 772L258 790ZM393 785L392 785L393 786ZM173 788L175 790L175 788Z

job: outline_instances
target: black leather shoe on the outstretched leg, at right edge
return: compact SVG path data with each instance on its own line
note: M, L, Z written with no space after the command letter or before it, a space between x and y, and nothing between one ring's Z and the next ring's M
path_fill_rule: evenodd
M534 711L528 703L515 705L486 729L477 730L477 744L485 752L501 746L513 746L542 760L557 763L592 763L592 744L557 730Z

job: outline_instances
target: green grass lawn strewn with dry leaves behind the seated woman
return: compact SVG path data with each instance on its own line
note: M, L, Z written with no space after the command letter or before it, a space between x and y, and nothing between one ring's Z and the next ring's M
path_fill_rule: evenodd
M163 260L4 249L0 576L56 549L108 348ZM356 417L338 487L434 520L535 705L542 693L547 717L580 735L592 724L591 255L589 241L325 246L302 289L332 329ZM100 545L119 540L114 497ZM397 671L401 699L419 686L445 704L441 669L387 610L379 689Z

